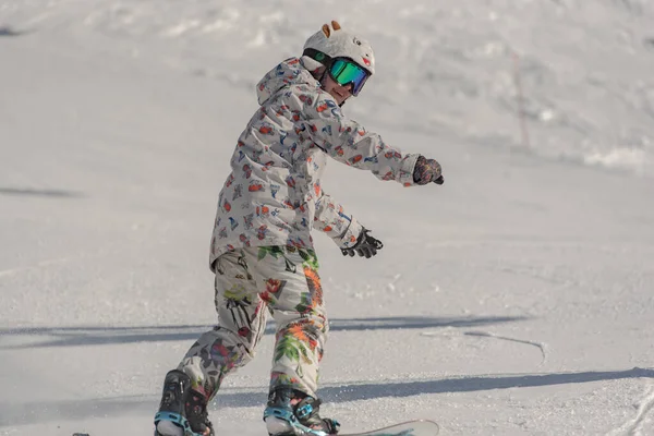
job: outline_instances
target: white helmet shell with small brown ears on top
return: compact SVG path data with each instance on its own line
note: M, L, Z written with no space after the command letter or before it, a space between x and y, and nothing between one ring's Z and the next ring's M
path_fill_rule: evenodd
M336 21L323 25L319 32L304 43L303 55L320 63L324 63L322 62L325 59L324 55L327 55L327 60L348 58L371 75L375 74L375 55L370 43L341 31L340 24Z

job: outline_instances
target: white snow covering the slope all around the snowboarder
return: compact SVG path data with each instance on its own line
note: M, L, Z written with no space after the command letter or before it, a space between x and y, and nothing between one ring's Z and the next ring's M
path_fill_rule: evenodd
M654 435L651 0L0 0L0 435L152 434L254 85L332 19L377 56L346 113L446 183L329 166L385 247L316 235L324 414ZM217 435L265 434L271 346Z

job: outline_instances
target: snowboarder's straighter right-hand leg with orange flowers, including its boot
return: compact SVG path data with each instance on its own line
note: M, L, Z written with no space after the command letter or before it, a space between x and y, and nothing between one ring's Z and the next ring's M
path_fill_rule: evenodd
M268 432L291 434L292 426L299 425L306 434L336 434L338 423L318 415L318 365L328 323L316 255L286 246L255 250L246 251L257 259L254 279L277 323L270 395L264 413Z

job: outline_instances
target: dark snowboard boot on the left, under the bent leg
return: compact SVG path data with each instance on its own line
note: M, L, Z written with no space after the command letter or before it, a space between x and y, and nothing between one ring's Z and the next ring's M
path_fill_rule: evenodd
M179 370L166 374L155 436L214 436L204 396L191 389L191 379Z

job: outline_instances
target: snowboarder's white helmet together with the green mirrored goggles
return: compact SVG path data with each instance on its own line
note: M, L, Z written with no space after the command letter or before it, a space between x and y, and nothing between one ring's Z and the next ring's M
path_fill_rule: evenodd
M304 44L303 64L316 76L327 73L342 86L352 85L356 96L375 73L375 55L370 43L341 29L332 21Z

